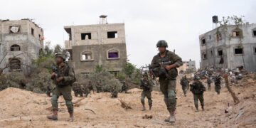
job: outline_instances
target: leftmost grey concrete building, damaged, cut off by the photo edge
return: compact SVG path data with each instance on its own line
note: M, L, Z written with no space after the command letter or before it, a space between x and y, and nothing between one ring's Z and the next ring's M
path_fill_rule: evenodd
M30 73L33 59L39 56L43 48L43 29L29 19L18 21L0 20L0 68L9 67L9 71Z

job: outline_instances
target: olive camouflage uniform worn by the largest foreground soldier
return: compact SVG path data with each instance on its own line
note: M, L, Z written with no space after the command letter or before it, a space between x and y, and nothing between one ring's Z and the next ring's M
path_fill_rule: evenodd
M166 50L166 55L164 58L161 58L160 53L155 55L151 61L151 65L154 63L159 63L163 59L171 60L171 62L176 64L177 67L183 65L181 58L169 50ZM171 73L176 73L176 75L178 74L176 68L171 68L171 70L168 71L169 75ZM169 112L176 110L176 76L172 77L171 79L166 78L165 76L160 76L159 82L161 92L164 93L164 102L166 103L167 110L169 110Z

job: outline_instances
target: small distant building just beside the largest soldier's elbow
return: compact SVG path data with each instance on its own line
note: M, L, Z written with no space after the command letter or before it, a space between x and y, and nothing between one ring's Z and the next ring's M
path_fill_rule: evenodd
M196 61L195 60L189 60L189 61L183 61L183 65L178 68L178 73L194 73L196 72Z

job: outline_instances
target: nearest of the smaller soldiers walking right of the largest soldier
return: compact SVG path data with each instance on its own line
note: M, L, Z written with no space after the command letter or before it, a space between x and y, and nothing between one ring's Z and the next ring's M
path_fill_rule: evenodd
M196 112L198 112L198 100L201 103L202 110L203 108L203 92L206 91L206 87L204 87L203 83L199 81L199 78L194 78L194 82L191 85L191 92L193 93L194 103L196 107Z

